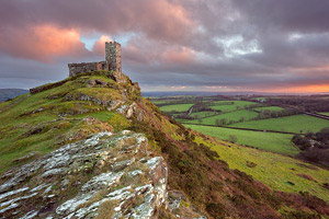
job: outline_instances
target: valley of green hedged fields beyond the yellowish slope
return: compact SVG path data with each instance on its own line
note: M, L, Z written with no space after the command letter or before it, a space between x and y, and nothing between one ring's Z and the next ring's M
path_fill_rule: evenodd
M296 103L277 103L280 97L282 102L299 100L300 107ZM305 102L310 99L241 95L164 96L151 101L191 129L242 146L296 155L299 150L291 141L294 135L317 132L329 127L329 120L305 114ZM319 101L324 102L324 96ZM319 106L324 107L321 104ZM310 111L315 112L313 108Z

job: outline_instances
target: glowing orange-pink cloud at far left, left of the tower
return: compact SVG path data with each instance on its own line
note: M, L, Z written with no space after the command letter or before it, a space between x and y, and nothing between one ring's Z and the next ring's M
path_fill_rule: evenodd
M58 56L80 56L87 53L76 30L50 25L7 28L0 33L0 50L8 55L54 61Z

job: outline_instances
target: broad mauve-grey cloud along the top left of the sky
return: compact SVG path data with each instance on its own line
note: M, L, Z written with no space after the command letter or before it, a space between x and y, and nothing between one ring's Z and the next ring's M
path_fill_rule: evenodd
M144 33L149 38L181 42L193 27L185 9L171 0L4 0L2 26L49 23L83 32Z

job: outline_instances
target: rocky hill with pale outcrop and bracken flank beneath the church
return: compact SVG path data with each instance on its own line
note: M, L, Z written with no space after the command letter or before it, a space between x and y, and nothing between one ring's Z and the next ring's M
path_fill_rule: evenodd
M164 115L125 74L80 73L0 103L0 216L329 216L328 200L231 170L235 148Z

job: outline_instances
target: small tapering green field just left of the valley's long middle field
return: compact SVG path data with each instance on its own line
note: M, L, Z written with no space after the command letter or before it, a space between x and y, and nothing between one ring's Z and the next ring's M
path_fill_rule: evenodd
M235 111L231 113L225 113L225 114L220 114L220 115L216 115L216 116L212 116L212 117L202 118L201 124L215 126L216 119L226 118L227 122L230 122L230 120L238 122L241 117L243 117L245 120L249 120L251 118L256 118L257 115L258 115L258 113L256 113L256 112L241 110L241 111ZM188 120L186 123L197 124L198 120L197 119Z

